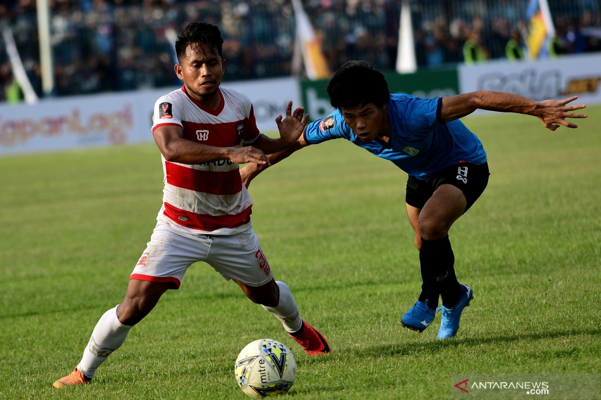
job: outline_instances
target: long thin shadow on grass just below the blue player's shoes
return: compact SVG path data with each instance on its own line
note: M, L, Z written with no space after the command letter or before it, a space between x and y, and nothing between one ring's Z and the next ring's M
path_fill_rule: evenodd
M427 343L403 343L403 344L391 344L391 345L374 345L365 348L358 348L353 350L353 354L357 356L374 356L374 355L389 355L389 356L409 356L419 353L437 353L438 351L445 350L449 347L459 346L475 346L481 344L506 344L517 341L531 341L541 339L554 339L562 338L564 336L572 335L596 335L601 333L599 328L591 329L568 329L558 330L555 332L545 333L521 333L517 335L506 335L506 336L489 336L489 337L476 337L476 338L462 338L462 339L447 339L445 341L432 341Z

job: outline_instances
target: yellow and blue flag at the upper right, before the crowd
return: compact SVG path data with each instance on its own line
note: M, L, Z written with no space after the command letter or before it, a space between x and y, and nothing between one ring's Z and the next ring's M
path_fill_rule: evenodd
M528 56L534 60L549 56L549 42L555 36L551 11L547 0L530 0L526 17L530 21L526 38Z

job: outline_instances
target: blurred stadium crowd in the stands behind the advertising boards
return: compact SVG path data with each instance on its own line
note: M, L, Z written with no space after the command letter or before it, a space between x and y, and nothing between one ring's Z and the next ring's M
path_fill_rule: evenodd
M349 59L394 70L400 1L304 0L332 70ZM523 58L528 0L412 1L419 67ZM601 50L599 0L549 0L552 54ZM177 85L174 33L193 21L221 27L227 80L293 73L295 23L289 0L50 0L55 95ZM0 4L29 79L41 95L35 0ZM592 34L585 35L585 29ZM587 32L588 32L587 31ZM19 98L0 40L0 101Z

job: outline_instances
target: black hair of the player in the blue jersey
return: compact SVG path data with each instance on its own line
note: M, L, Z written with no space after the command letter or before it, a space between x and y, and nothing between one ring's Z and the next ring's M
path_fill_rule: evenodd
M367 61L346 62L334 73L326 90L332 107L336 109L370 103L383 106L390 98L383 74Z

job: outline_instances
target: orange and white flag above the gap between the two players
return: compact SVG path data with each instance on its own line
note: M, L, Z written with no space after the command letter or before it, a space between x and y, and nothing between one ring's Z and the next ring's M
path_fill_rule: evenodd
M309 79L328 78L331 73L320 48L319 39L300 0L292 0L296 21L296 40L301 47L305 71Z

